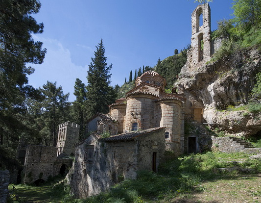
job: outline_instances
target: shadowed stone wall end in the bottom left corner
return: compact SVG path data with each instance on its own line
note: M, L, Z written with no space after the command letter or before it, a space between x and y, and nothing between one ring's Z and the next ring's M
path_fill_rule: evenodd
M6 203L8 196L9 178L9 171L0 171L0 203Z

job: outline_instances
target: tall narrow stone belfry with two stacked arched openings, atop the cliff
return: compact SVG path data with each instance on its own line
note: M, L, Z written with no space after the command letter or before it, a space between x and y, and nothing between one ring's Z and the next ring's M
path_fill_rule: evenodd
M198 5L191 14L192 63L208 61L211 57L211 12L208 3Z

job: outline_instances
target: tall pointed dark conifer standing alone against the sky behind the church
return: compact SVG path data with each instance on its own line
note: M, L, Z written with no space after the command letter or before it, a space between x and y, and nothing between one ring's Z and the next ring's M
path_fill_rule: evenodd
M87 104L88 117L92 117L95 113L108 113L108 105L113 103L116 94L113 87L109 86L111 81L110 70L112 64L107 66L107 57L105 57L105 49L102 44L102 39L96 46L95 58L92 58L88 71Z

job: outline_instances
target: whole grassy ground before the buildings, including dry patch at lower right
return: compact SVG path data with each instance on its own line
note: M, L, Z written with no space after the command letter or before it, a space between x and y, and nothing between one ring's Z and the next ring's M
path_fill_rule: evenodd
M248 157L245 153L222 152L183 155L161 164L158 173L140 171L136 180L126 179L109 191L86 200L75 200L69 195L68 186L57 184L53 187L51 183L39 187L17 185L15 194L21 201L34 203L168 203L184 199L189 203L195 199L199 202L250 201L254 195L260 195L261 188L257 184L261 181L260 176L215 170L233 167L226 161L244 160L246 162L237 167L253 168L261 173L261 161ZM244 188L245 185L248 188Z

